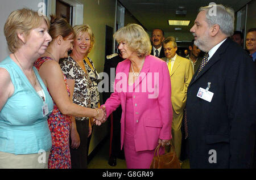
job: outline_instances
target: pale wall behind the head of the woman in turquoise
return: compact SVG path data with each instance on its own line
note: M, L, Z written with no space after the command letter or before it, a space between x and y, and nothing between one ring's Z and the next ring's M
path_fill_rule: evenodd
M42 0L4 0L0 4L0 61L5 59L7 55L10 54L5 34L3 33L3 27L5 27L5 22L11 12L18 10L23 7L31 8L34 11L38 11L40 7L38 4Z

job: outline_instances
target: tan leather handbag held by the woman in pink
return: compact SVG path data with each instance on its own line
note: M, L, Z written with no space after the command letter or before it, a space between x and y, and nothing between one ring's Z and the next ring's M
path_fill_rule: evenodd
M174 152L173 145L170 144L170 152L167 152L164 155L159 155L158 153L160 146L161 145L159 144L158 147L155 148L155 153L150 165L150 169L181 169L180 161Z

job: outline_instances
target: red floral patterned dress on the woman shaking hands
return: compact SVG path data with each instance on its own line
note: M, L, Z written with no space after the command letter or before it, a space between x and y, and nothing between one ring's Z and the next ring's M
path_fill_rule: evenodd
M41 57L35 62L34 66L39 70L41 65L46 61L54 60L50 57ZM64 74L63 77L68 91L68 95L70 95L67 85L67 78ZM52 135L52 148L49 155L48 168L71 168L71 155L69 150L69 132L71 117L69 115L62 114L54 101L52 113L48 116L48 125Z

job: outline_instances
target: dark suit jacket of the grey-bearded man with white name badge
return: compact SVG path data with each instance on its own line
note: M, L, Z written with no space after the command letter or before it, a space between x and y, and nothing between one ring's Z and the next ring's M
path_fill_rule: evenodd
M228 38L195 76L186 106L191 168L251 168L256 126L253 62ZM197 97L208 82L214 93L211 102Z

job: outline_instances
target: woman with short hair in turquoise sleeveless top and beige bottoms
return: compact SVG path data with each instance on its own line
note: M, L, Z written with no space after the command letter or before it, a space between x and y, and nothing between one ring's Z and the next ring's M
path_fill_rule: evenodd
M0 62L0 168L47 168L53 102L33 67L52 40L49 20L23 8L5 23L10 56Z

